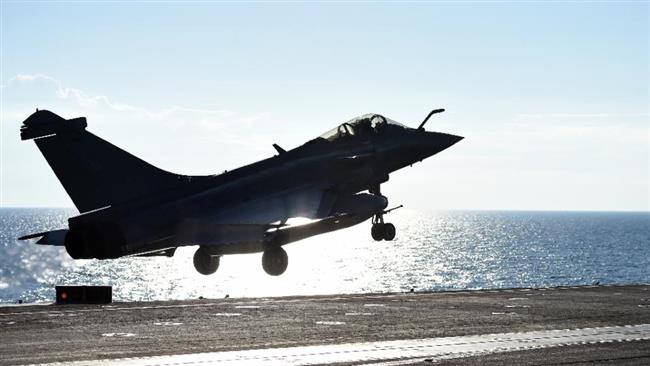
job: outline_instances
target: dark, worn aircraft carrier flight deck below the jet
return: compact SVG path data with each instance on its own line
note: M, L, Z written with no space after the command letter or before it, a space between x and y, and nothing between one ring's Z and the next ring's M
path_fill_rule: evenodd
M650 285L0 307L0 364L650 364Z

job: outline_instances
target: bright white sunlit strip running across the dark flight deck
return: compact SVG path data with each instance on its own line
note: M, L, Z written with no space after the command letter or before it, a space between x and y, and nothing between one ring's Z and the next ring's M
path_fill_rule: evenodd
M568 345L650 340L650 324L496 333L459 337L267 348L112 360L66 362L72 365L314 365L339 362L397 365L407 360L456 358ZM399 361L402 360L402 361ZM49 365L56 365L49 364Z

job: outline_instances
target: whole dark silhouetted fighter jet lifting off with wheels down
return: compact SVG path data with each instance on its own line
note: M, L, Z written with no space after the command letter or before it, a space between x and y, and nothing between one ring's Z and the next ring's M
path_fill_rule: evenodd
M462 137L408 128L379 114L345 122L292 150L229 172L187 176L154 167L86 131L86 118L37 110L23 122L81 213L68 229L26 235L74 259L172 256L198 245L194 267L214 273L226 254L263 252L266 273L287 268L282 246L372 218L374 240L393 240L381 184ZM367 191L367 192L366 192ZM312 219L288 225L290 218Z

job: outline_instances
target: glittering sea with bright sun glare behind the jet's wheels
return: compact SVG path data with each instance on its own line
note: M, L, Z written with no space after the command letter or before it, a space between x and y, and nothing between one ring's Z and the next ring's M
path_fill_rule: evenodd
M63 247L17 238L67 227L72 209L0 209L0 303L51 302L54 286L112 285L114 300L548 287L650 282L650 213L398 210L391 242L370 223L285 246L287 271L261 254L194 270L197 247L172 258L72 260Z

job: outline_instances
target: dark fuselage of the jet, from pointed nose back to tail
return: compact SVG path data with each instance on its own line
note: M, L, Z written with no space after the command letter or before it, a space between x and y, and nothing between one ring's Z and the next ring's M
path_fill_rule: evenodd
M421 161L460 137L401 126L381 133L317 138L274 157L219 175L193 177L177 187L70 219L117 223L127 251L169 246L182 222L270 224L291 217L334 214L337 200L388 180L390 173ZM151 233L156 233L152 237ZM182 243L174 243L176 245Z

